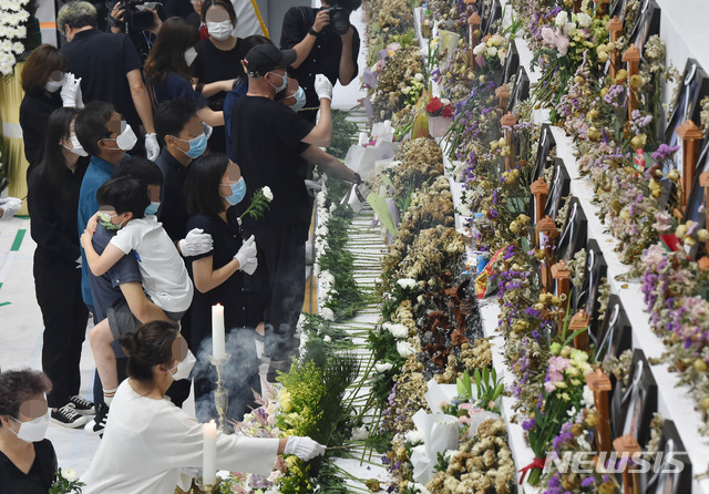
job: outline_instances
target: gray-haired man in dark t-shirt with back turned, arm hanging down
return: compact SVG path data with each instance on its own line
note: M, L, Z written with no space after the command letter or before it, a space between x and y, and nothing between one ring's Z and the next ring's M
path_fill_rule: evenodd
M81 78L84 102L112 103L134 130L138 130L142 122L147 157L155 159L160 146L153 126L153 109L143 83L141 59L131 39L125 34L99 31L96 9L85 1L64 4L56 16L56 28L69 42L61 51L69 58L69 70ZM134 151L140 153L142 147L143 140L138 140Z

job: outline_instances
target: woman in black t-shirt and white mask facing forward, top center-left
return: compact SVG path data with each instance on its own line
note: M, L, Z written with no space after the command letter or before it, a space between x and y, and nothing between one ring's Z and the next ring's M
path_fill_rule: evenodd
M242 60L248 50L244 40L233 34L237 18L229 0L206 0L202 7L202 22L207 25L209 38L195 45L197 56L189 66L192 82L195 90L207 99L209 107L218 112L224 110L224 100L237 80L246 82ZM209 150L226 151L223 127L214 130Z

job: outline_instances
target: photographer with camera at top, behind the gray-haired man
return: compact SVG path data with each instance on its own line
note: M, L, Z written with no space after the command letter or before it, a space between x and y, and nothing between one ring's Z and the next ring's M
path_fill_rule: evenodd
M107 7L111 12L107 20L111 32L127 34L143 62L151 53L157 31L163 25L163 21L157 16L157 8L161 6L161 2L145 0L120 0L116 2L109 0Z

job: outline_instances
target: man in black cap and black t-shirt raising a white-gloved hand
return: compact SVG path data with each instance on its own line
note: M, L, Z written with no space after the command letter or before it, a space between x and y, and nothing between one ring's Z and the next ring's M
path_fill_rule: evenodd
M316 83L322 117L314 126L292 110L274 101L287 84L286 66L296 60L295 50L280 51L260 44L246 54L248 92L237 100L232 113L232 140L236 163L246 182L246 207L254 192L270 187L274 199L261 218L244 219L247 235L259 248L259 268L253 277L265 302L265 356L271 370L284 370L294 351L294 333L305 298L305 241L311 209L304 183L305 161L311 148L327 146L332 134L330 101L332 85L322 78ZM319 150L318 150L319 151ZM330 176L354 181L354 172L341 163L325 163ZM259 276L263 275L261 276ZM282 366L282 367L279 367ZM285 369L287 370L287 369Z

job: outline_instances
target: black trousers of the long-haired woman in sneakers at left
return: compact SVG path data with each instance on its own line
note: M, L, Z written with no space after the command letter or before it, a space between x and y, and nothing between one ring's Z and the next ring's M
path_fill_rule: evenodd
M89 310L81 298L76 264L34 251L34 291L42 310L42 369L52 381L51 408L63 406L81 388L81 347L86 338Z

